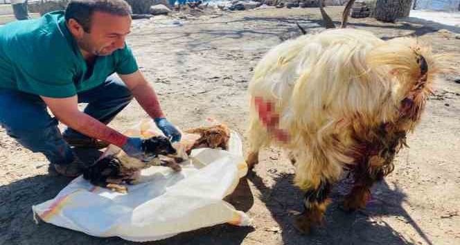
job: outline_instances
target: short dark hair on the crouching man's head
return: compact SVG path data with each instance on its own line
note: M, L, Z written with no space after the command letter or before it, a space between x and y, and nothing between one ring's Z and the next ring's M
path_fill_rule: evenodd
M75 19L89 33L91 17L96 11L126 16L131 14L131 6L125 0L71 0L67 4L65 19Z

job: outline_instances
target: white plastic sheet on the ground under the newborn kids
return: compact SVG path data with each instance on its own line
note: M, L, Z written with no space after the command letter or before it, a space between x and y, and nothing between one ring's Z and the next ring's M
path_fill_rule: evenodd
M148 131L158 131L153 127L151 121L143 121L126 133L146 136ZM231 132L229 151L194 149L181 165L181 172L161 166L143 170L141 183L127 185L127 194L96 187L79 176L54 199L33 206L34 217L97 237L136 242L215 224L250 225L245 212L222 200L247 173L236 132Z

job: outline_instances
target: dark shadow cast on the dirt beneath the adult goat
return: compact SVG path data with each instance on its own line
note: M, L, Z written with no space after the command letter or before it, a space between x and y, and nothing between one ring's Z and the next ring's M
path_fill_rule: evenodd
M391 190L385 181L374 186L373 198L366 209L348 213L339 208L339 201L351 188L351 180L342 180L331 194L333 203L326 212L324 227L312 230L310 235L300 235L292 226L294 217L288 215L290 210L303 210L303 193L292 185L293 178L294 174L278 174L275 184L268 188L256 173L252 172L249 176L261 192L260 199L281 227L284 244L414 244L378 219L382 216L401 217L414 227L427 244L432 244L403 208L405 194L398 188Z

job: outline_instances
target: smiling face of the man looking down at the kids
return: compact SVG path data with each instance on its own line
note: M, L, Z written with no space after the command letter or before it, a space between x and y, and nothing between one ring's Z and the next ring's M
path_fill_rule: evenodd
M125 47L125 37L130 33L131 17L94 12L89 33L81 32L78 46L89 55L110 55Z

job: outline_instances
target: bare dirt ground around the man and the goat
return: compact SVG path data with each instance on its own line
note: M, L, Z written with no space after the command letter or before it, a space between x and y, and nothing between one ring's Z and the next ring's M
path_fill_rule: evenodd
M339 21L342 8L327 8ZM299 35L296 22L309 32L319 28L317 9L265 9L135 20L127 42L141 71L157 90L168 118L181 128L218 118L240 134L248 123L247 86L264 53ZM460 57L460 39L428 26L383 24L350 19L350 28L370 30L383 39L416 35L434 51ZM451 29L452 30L452 29ZM457 60L460 64L460 59ZM146 244L460 244L460 84L449 75L436 84L421 125L408 138L409 149L396 159L396 170L373 188L364 210L338 208L349 181L333 191L324 228L300 235L290 210L301 210L302 194L292 185L294 169L278 149L261 161L229 201L254 218L252 227L227 224L202 228ZM145 117L133 102L111 123L127 129ZM99 152L79 152L87 161ZM118 237L91 237L33 221L31 206L52 199L71 179L48 171L41 154L33 154L0 129L0 244L135 244Z

